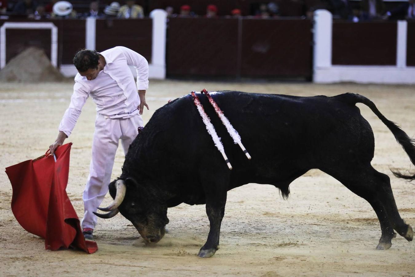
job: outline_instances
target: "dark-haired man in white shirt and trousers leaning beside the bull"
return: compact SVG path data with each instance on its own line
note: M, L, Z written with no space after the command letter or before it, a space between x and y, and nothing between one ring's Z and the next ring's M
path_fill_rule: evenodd
M92 143L90 172L83 191L85 214L81 221L86 239L93 240L97 217L93 212L108 191L115 152L121 140L124 153L143 127L143 108L148 88L149 66L146 59L126 47L114 47L103 52L83 49L73 58L78 70L73 86L71 104L63 115L56 141L49 146L53 154L81 114L86 99L91 96L97 105L95 132ZM137 69L137 86L129 65ZM138 93L137 93L138 88Z

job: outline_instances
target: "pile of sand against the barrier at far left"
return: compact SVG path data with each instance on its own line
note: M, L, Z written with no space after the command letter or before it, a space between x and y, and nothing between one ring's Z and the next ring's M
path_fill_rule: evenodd
M0 71L2 82L54 82L65 77L56 69L43 50L29 47L15 56Z

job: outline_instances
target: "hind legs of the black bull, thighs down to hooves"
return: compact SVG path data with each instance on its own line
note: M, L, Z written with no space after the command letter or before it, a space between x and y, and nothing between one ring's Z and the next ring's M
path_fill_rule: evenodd
M365 169L348 168L346 170L346 168L323 171L342 182L344 186L371 204L378 216L382 231L376 249L391 248L391 240L396 237L393 229L407 240L412 240L412 228L400 218L395 199L393 198L389 177L377 172L371 165L365 167Z

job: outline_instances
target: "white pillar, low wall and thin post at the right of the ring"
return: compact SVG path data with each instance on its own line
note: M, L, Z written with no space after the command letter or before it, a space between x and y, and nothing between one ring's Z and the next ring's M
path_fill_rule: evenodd
M406 66L406 21L397 24L396 66L333 66L332 14L327 10L316 10L314 19L313 82L415 84L415 67Z

